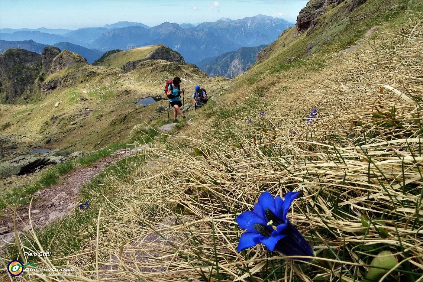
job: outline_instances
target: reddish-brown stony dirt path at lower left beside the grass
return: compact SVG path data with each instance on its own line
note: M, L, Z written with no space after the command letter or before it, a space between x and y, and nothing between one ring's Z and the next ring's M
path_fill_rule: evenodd
M96 174L99 174L105 166L126 155L126 150L122 149L115 153L115 155L103 158L89 167L78 167L60 177L63 178L61 183L37 191L33 195L32 203L19 205L16 213L14 207L3 210L3 214L0 216L0 247L6 242L14 241L13 218L15 218L18 232L24 232L31 228L30 221L34 229L41 228L55 218L64 217L71 210L79 208L77 205L80 204L81 188ZM29 216L30 209L31 216Z

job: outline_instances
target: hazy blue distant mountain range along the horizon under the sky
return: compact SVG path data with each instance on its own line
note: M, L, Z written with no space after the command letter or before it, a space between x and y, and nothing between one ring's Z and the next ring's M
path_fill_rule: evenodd
M102 52L165 44L179 52L187 62L196 64L202 59L235 51L240 47L270 44L283 30L293 25L284 19L257 15L236 20L222 18L216 22L199 24L178 25L165 22L152 28L140 22L116 22L112 25L105 25L103 28L80 28L78 30L2 28L0 29L0 39L5 41L33 40L48 45L69 42Z

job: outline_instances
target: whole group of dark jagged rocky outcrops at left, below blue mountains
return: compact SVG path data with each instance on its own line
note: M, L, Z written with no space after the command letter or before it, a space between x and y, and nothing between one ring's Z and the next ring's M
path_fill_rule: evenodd
M8 49L0 55L0 98L2 103L15 104L35 93L46 95L55 88L71 86L81 77L95 71L88 68L87 60L68 50L47 46L41 55L24 49ZM64 69L69 72L54 75ZM49 75L44 81L45 76Z

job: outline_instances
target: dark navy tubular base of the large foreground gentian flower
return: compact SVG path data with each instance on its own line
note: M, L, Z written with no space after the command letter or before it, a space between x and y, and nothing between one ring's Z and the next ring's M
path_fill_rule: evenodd
M305 238L298 232L297 228L287 221L287 227L284 229L286 237L277 242L275 251L281 252L286 256L308 256L314 257L314 251ZM311 259L298 258L302 261L311 261Z

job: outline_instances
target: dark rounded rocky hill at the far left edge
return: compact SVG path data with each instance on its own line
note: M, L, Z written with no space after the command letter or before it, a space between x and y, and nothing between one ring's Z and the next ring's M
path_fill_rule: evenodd
M41 71L41 55L24 49L8 49L0 55L1 102L13 104L30 91Z

